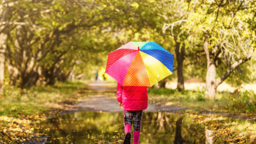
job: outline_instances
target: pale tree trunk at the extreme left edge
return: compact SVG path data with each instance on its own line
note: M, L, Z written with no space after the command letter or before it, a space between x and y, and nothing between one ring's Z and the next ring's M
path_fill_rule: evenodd
M3 0L0 5L0 22L8 21L8 0ZM4 8L3 4L7 6ZM1 15L2 14L2 15ZM5 62L5 52L6 52L6 44L8 39L8 30L5 25L0 27L0 93L3 93L4 90L4 62Z

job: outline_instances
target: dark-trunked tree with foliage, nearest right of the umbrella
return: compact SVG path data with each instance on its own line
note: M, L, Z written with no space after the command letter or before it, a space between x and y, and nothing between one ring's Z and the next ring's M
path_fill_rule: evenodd
M191 5L190 1L172 1L172 4L168 6L168 8L172 10L172 16L168 16L168 20L171 21L171 23L164 23L164 26L162 27L163 33L166 33L166 30L169 29L171 30L169 34L173 36L178 75L177 89L179 91L185 89L183 76L183 63L185 57L191 57L199 52L198 49L192 48L198 44L190 42L193 32L191 32L190 29L186 30L183 28L184 23L188 21L187 19L188 16L190 16L190 13L193 13L193 11L190 10L193 8ZM185 51L189 54L186 54ZM188 59L187 61L190 60Z

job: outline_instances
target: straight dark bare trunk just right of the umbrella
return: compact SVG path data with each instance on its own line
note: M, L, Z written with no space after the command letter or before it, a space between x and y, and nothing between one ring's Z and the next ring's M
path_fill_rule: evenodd
M175 40L176 41L176 40ZM185 59L185 45L183 44L180 48L180 42L176 41L176 60L177 60L177 75L178 75L178 84L177 89L179 91L184 90L184 78L183 78L183 61Z

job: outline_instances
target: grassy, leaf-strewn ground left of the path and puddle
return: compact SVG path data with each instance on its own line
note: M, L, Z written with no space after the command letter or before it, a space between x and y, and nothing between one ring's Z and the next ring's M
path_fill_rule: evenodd
M73 105L86 97L85 83L58 83L55 86L28 90L8 89L0 95L0 143L39 141L43 133L35 133L35 124L62 111L76 110Z

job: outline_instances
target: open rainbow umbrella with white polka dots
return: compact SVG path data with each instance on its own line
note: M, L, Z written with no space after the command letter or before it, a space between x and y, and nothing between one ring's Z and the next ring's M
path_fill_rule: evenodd
M128 42L108 54L106 73L123 86L152 87L173 74L173 58L155 42Z

